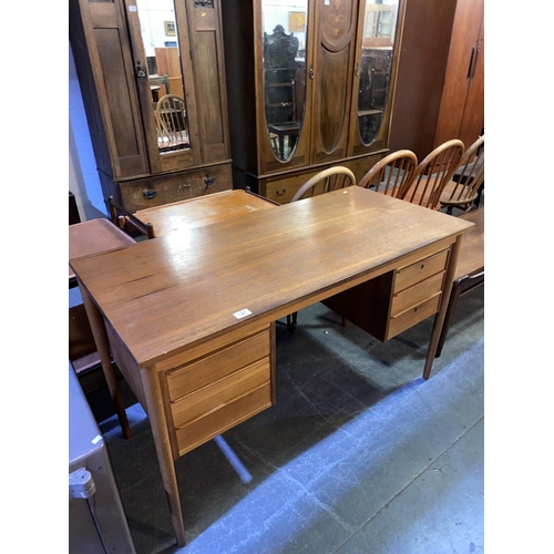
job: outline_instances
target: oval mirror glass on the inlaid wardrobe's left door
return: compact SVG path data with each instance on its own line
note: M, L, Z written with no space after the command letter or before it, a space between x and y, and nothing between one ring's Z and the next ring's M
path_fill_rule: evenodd
M275 156L290 160L306 106L307 0L261 2L264 103Z

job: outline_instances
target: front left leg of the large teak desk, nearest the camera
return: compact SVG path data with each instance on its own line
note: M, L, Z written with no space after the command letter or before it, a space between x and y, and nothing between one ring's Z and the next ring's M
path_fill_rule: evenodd
M160 377L153 368L141 368L141 380L144 388L146 411L152 427L152 435L156 447L157 461L164 481L165 496L170 504L173 529L175 530L177 544L184 546L186 544L185 525L183 523L177 474L175 473L175 462L173 460L170 433L167 431L167 420L165 418Z

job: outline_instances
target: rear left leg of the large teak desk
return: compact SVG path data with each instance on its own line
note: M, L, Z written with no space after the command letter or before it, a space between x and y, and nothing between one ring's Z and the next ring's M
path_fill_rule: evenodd
M104 318L102 317L102 314L99 311L96 305L92 301L89 293L81 285L81 283L79 283L79 289L81 290L86 317L89 318L89 324L94 337L94 343L96 345L96 350L100 356L102 370L104 371L105 380L107 381L107 388L110 390L113 403L115 404L115 411L117 413L117 419L120 421L123 437L125 439L131 439L131 428L129 427L125 404L123 403L123 398L121 396L117 376L115 375L115 370L112 366L112 355L110 352L107 335L105 332Z

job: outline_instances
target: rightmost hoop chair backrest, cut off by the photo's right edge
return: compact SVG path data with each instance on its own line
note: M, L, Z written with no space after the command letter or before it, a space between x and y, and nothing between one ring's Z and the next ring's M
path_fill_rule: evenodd
M484 135L480 136L464 153L454 170L441 202L463 204L478 197L478 189L484 181Z

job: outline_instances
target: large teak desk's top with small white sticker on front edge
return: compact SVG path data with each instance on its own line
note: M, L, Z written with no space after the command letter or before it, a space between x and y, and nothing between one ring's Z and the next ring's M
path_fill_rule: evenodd
M471 226L351 186L72 266L145 367L232 328L284 317L299 300L318 301L337 284L390 270L391 263ZM237 319L244 309L252 314Z

